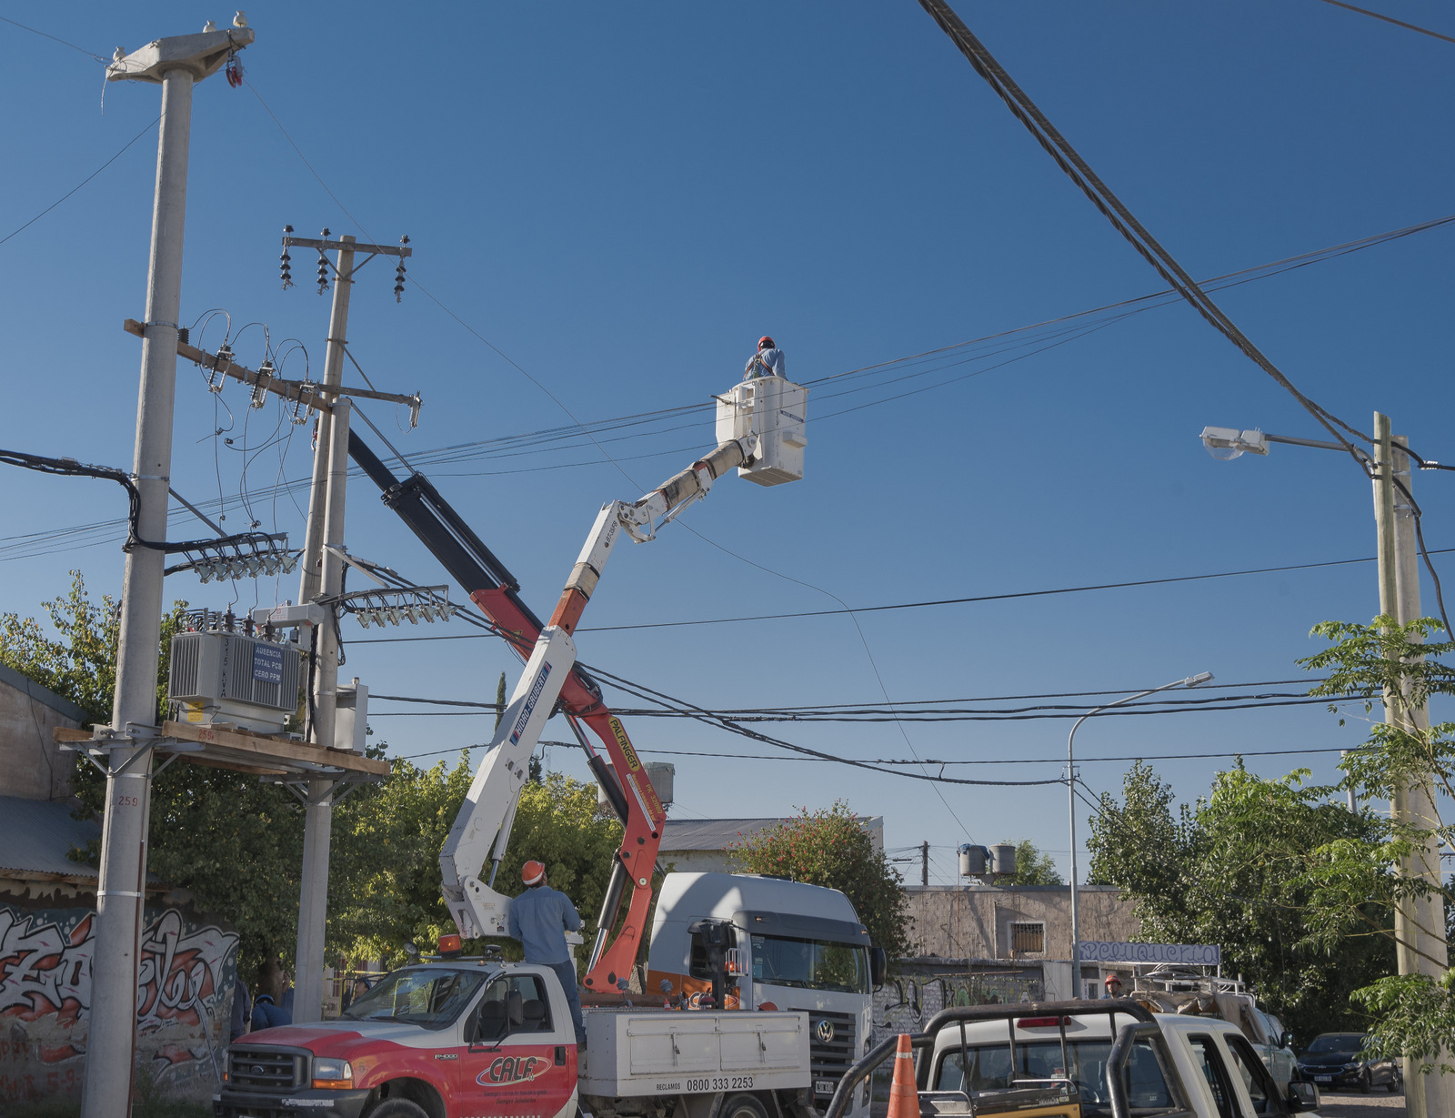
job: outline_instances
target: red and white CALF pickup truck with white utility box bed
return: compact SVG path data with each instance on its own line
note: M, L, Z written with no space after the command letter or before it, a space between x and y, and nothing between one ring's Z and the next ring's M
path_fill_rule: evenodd
M227 1050L217 1118L813 1118L809 1015L586 1010L549 967L391 971L343 1016Z

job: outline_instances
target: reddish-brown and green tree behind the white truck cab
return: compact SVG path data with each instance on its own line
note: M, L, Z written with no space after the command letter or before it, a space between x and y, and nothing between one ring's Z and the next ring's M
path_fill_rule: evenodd
M906 930L904 879L885 857L844 801L792 820L732 844L748 873L776 873L838 889L854 905L874 946L890 959L912 948Z

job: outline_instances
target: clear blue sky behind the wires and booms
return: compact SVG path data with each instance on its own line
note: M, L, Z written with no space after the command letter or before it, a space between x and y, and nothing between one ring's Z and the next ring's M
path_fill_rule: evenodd
M1455 32L1436 3L1382 9ZM1443 141L1455 98L1449 44L1317 0L962 3L959 12L1195 275L1455 211ZM4 13L103 57L231 19L230 9L180 3L13 3ZM816 380L1160 287L912 0L259 3L247 15L258 33L243 54L252 89L218 76L195 96L183 322L224 307L234 335L262 322L275 344L303 339L314 371L327 298L313 291L306 252L294 253L298 285L279 290L287 223L384 242L407 233L418 253L410 280L585 421L704 402L738 380L761 333L781 344L790 376ZM0 42L0 90L12 106L4 236L146 128L160 95L112 84L102 112L99 63L7 23ZM129 466L140 346L121 322L143 312L154 153L148 132L0 245L4 447ZM1442 227L1219 300L1324 406L1363 429L1372 411L1385 411L1423 454L1455 460L1452 247ZM387 263L359 280L355 355L380 387L425 397L412 432L388 408L365 408L406 454L570 422L413 284L396 306ZM221 329L214 320L208 348ZM1374 553L1369 486L1347 459L1277 447L1266 460L1216 463L1202 450L1205 424L1323 432L1187 307L1148 310L1055 348L1045 345L1061 339L1045 332L1010 344L1026 341L995 358L941 361L914 380L893 377L924 365L816 386L808 477L777 489L726 480L684 518L751 563L674 526L614 560L583 625L835 606L805 582L857 607ZM262 329L244 330L234 348L256 367ZM1021 360L989 368L1011 357ZM290 357L285 373L301 371L301 357ZM835 397L847 387L864 390ZM928 390L889 399L918 387ZM831 415L857 405L873 406ZM214 397L195 368L179 367L173 485L195 502L221 496L231 530L249 520L246 489L265 527L276 523L301 543L298 508L275 498L274 485L307 475L307 428L278 424L272 409L249 413L236 384ZM221 438L218 428L228 428ZM294 435L281 461L276 445L258 453L275 429ZM583 438L506 447L530 451L511 456L467 447L425 472L544 614L599 504L636 496L713 441L704 412L611 432L621 435L604 445L637 488ZM17 470L4 480L0 610L35 613L64 592L68 568L83 569L95 592L119 587L113 528L49 534L115 521L124 512L115 486ZM1430 547L1455 546L1455 482L1416 480ZM354 552L419 582L442 579L368 482L351 498ZM179 518L173 531L199 527ZM44 536L20 539L31 533ZM1436 562L1455 575L1448 558ZM1451 591L1455 601L1455 581ZM1429 584L1424 592L1433 611ZM266 604L297 597L297 584L239 584L239 608ZM231 598L191 576L169 579L167 597L214 608ZM1291 680L1301 674L1293 659L1318 648L1314 623L1368 620L1376 604L1372 565L1355 565L870 613L860 625L899 702L1131 691L1203 670L1219 683ZM377 630L349 622L345 635ZM578 643L586 662L706 707L885 699L845 617L582 633ZM354 643L348 654L345 674L388 694L493 699L498 674L518 674L493 639ZM482 716L375 716L372 726L396 754L485 741L490 729ZM1068 728L911 723L906 742L893 723L768 726L853 757L912 748L1018 761L950 770L991 779L1056 777L1056 763L1029 758L1064 753ZM889 847L933 843L934 881L953 878L953 846L966 837L1027 837L1065 865L1059 786L944 786L946 806L905 779L744 760L773 750L687 722L636 719L630 729L649 756L728 754L671 758L681 815L771 815L842 798L885 817ZM566 737L565 726L551 723L549 735ZM1320 706L1273 707L1106 718L1081 731L1078 753L1100 790L1119 788L1126 766L1094 757L1323 748L1360 737ZM1276 774L1307 763L1333 779L1333 758L1250 766ZM579 754L554 750L550 760L585 774ZM1192 799L1227 764L1157 769ZM917 879L917 866L905 869Z

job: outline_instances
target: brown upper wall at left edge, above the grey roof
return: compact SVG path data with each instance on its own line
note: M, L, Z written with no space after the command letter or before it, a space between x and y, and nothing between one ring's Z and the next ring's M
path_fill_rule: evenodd
M74 754L51 741L55 726L79 729L86 712L0 664L0 796L65 799Z

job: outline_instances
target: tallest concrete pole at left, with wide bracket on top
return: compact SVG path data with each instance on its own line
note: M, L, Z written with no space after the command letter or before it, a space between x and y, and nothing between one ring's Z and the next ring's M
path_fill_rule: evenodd
M108 82L162 86L157 183L151 210L147 316L141 342L137 447L132 480L140 492L135 534L167 536L172 475L172 408L176 396L178 316L182 304L182 234L186 224L192 86L253 41L247 28L157 39L106 67ZM162 571L166 552L137 546L127 553L121 594L121 642L112 702L96 948L92 956L90 1025L86 1039L83 1118L125 1118L137 1032L137 942L147 876L151 808L151 740L157 734L157 665L162 652Z

